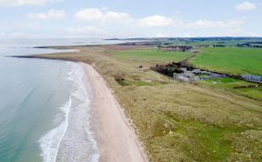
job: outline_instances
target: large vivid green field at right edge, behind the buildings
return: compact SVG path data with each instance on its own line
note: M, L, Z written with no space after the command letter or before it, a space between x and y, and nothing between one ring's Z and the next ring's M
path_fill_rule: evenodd
M204 48L190 64L232 75L262 75L262 49L259 48Z

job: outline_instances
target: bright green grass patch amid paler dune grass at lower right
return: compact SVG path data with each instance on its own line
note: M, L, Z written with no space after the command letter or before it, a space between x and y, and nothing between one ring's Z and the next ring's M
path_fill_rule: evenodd
M182 136L190 137L191 142L195 143L196 148L201 147L200 150L205 152L191 155L198 161L206 159L208 161L227 161L227 157L230 156L234 150L231 147L230 142L227 139L227 135L235 134L237 132L245 131L245 127L217 127L212 125L203 124L190 120L179 120L176 117L169 116L169 119L176 124L176 128L169 132L169 136ZM185 146L190 154L194 150L194 144L192 146ZM195 149L196 149L195 148ZM196 150L194 150L196 153Z

